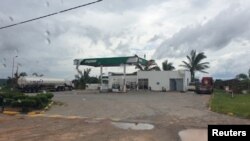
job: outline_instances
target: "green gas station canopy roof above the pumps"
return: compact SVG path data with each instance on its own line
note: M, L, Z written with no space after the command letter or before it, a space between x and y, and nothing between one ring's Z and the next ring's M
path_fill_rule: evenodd
M148 61L135 56L127 57L109 57L109 58L88 58L88 59L75 59L74 65L86 65L93 67L115 67L121 65L147 65Z

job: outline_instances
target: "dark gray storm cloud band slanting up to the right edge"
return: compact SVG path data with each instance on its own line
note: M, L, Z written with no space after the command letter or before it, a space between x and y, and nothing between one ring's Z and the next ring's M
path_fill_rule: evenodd
M156 49L154 57L181 57L192 49L218 50L237 39L250 40L249 7L228 8L205 24L188 26Z

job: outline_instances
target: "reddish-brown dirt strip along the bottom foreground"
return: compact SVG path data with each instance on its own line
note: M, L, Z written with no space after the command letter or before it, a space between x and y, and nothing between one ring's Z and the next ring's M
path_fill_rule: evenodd
M153 130L124 130L108 119L0 116L1 141L176 141L181 128L156 125Z

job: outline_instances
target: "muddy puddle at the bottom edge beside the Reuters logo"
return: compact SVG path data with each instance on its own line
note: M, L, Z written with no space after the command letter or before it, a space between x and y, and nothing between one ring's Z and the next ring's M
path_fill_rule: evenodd
M187 129L178 134L181 141L207 141L207 129Z

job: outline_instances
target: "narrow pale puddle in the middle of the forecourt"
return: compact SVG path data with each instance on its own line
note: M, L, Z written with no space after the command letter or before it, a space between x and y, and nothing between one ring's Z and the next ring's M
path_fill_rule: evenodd
M112 122L117 128L120 129L131 129L131 130L152 130L154 129L154 125L148 123L128 123L128 122Z

